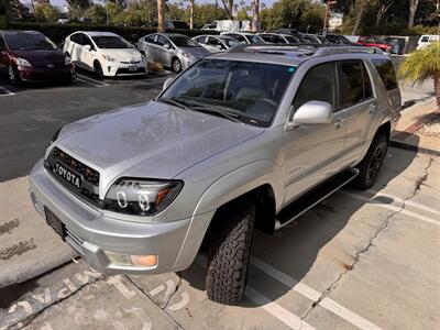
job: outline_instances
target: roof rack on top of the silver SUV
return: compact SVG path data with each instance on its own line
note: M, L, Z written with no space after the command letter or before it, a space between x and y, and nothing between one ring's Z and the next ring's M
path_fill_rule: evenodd
M384 52L376 47L364 46L345 46L345 45L326 45L326 44L240 44L228 52L230 53L262 53L274 55L286 55L294 57L304 56L327 56L334 54L350 54L350 53L367 53L367 54L384 54Z

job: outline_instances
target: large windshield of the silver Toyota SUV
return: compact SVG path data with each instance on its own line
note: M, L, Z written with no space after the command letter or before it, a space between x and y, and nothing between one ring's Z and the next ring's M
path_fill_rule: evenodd
M276 64L206 58L184 72L160 100L268 127L295 69Z

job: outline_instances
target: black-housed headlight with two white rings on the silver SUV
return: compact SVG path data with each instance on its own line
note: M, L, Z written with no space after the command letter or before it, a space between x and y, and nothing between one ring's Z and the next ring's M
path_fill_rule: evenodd
M120 178L107 193L105 209L151 217L170 205L183 186L179 180Z

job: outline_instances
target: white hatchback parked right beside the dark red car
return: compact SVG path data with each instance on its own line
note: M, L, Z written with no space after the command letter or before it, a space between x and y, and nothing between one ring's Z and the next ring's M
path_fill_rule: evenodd
M111 32L75 32L66 37L64 53L98 77L146 75L142 54L127 40Z

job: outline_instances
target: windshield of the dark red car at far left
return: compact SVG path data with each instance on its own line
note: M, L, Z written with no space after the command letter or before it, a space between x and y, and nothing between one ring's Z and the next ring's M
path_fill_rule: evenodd
M34 33L6 34L6 42L12 51L53 51L57 46L45 35Z

